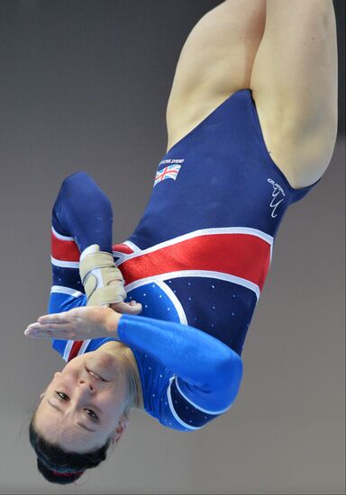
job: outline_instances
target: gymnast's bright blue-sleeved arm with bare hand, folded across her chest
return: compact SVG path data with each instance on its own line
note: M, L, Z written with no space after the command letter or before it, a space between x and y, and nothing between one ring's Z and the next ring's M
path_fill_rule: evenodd
M120 340L167 367L178 377L187 398L214 414L227 410L239 391L241 357L217 338L178 322L90 306L42 316L24 333L44 338Z

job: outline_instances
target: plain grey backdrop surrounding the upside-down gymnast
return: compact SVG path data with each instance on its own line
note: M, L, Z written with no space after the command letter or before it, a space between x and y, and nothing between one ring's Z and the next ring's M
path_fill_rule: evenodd
M123 442L77 487L43 480L29 445L31 411L63 365L49 341L23 337L46 312L59 184L87 170L114 204L114 243L132 233L166 151L180 49L217 4L0 2L1 493L344 490L343 0L339 139L321 183L281 225L232 410L189 434L133 411Z

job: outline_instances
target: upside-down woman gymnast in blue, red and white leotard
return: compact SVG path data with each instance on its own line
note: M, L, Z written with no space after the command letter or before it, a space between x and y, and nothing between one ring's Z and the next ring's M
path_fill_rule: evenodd
M25 330L67 362L29 428L47 480L105 460L132 408L191 431L232 406L280 222L332 157L336 58L332 1L225 1L180 54L168 151L132 235L113 245L86 172L63 181L50 314Z

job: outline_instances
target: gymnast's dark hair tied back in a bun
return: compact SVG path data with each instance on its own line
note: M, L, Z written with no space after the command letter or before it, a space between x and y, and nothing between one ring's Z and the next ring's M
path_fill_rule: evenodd
M35 414L29 426L29 438L37 455L37 469L46 480L61 485L76 482L86 469L96 467L105 461L111 438L97 450L78 454L66 452L60 446L50 444L34 427Z

